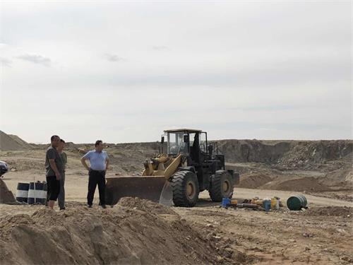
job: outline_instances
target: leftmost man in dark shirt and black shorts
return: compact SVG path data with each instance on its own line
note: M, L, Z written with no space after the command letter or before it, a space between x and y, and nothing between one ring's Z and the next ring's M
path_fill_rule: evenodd
M53 135L50 141L52 145L49 146L45 155L45 169L47 170L48 206L54 209L54 203L56 199L58 199L60 192L60 178L63 173L63 163L58 151L56 151L60 143L60 137Z

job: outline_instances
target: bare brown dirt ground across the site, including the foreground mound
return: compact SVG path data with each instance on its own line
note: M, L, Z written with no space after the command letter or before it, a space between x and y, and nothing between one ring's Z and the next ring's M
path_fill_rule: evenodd
M279 196L285 204L289 196L304 194L309 208L302 211L220 208L210 201L208 192L200 194L194 208L164 208L128 199L102 210L97 205L97 191L94 207L85 207L88 175L80 165L77 148L69 145L66 150L66 211L56 208L51 213L44 206L0 204L0 245L7 246L0 247L1 264L46 263L49 257L37 257L35 249L25 250L34 244L30 237L44 240L42 235L50 239L44 240L47 244L57 244L51 249L39 247L66 255L57 261L65 264L353 263L352 189L348 182L323 182L331 165L283 170L263 162L227 163L243 177L234 189L238 201ZM110 149L112 167L107 176L138 174L143 159L154 151L153 147L128 144ZM18 182L45 180L44 152L43 146L0 151L0 160L11 166L3 179L13 194ZM342 163L345 175L349 160ZM340 167L332 169L337 175ZM67 238L72 241L71 249L65 247Z

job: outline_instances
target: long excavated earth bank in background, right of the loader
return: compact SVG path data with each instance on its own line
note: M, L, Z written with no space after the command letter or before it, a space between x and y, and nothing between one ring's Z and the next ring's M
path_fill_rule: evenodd
M229 163L269 163L305 167L345 158L353 153L352 140L258 141L220 140L219 150Z

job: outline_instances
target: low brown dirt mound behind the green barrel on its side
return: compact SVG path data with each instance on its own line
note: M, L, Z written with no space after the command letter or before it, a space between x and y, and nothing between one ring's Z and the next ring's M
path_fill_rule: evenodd
M293 192L324 192L330 188L325 184L320 184L315 177L302 177L300 179L277 180L268 182L261 189L276 189Z

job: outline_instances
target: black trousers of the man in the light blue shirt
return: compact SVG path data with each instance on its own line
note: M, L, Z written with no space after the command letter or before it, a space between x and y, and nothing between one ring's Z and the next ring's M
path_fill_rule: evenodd
M95 196L95 187L97 187L97 185L98 190L100 192L100 205L105 205L105 170L90 170L90 172L88 172L88 205L93 204L93 197Z

